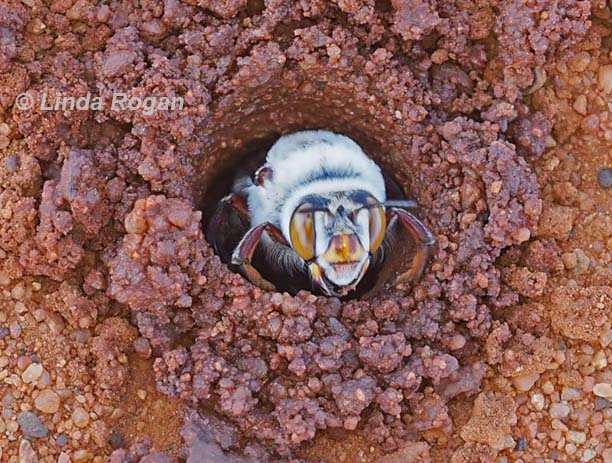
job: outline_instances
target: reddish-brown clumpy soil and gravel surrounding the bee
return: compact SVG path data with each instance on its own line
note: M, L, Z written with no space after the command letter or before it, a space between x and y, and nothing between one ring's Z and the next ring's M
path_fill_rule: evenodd
M602 0L0 0L0 462L612 462L611 26ZM268 293L214 255L220 179L303 128L418 201L417 285Z

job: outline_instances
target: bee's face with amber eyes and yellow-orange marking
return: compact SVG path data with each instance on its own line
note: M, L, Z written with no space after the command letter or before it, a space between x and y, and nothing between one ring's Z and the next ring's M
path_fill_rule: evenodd
M366 273L385 225L384 208L365 191L311 195L293 212L291 245L315 283L330 295L346 295Z

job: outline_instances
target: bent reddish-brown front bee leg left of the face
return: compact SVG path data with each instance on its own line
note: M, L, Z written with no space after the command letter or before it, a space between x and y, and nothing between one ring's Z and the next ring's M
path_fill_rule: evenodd
M232 254L232 264L238 266L240 272L254 285L268 291L273 291L276 287L262 277L261 273L251 264L255 249L257 249L257 245L261 241L264 232L274 241L285 245L289 244L283 233L275 225L269 222L261 223L252 227L242 237Z

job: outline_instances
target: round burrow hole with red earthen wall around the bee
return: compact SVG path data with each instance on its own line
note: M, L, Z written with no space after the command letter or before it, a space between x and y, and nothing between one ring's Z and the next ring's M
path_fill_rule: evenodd
M300 130L324 129L355 140L383 170L390 199L416 198L412 190L411 167L403 156L402 130L383 105L360 101L343 83L321 81L277 81L248 95L235 95L215 107L212 122L204 130L206 155L196 162L195 197L203 212L204 230L218 202L232 190L239 175L251 175L265 162L270 147L282 135ZM238 217L230 219L226 230L235 242L248 229ZM400 231L397 249L375 275L369 274L347 299L369 297L388 291L388 282L405 271L414 255L410 235ZM233 249L233 248L232 248ZM230 251L231 252L231 251ZM228 257L220 256L227 264ZM261 263L254 264L278 290L295 293L310 289L308 280L289 281Z

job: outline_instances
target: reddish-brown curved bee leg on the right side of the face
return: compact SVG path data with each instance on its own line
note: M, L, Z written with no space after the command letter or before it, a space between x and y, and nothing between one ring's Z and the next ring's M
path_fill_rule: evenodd
M434 245L436 244L436 238L427 226L410 212L392 208L391 213L399 219L399 222L415 239L417 248L410 270L400 274L396 278L395 284L417 281L421 278L425 267L429 263Z

